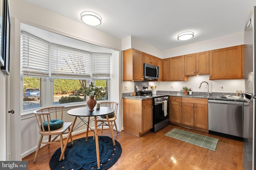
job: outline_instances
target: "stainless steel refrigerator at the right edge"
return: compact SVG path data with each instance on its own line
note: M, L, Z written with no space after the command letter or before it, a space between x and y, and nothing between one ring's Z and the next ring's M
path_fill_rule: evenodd
M244 29L244 126L243 126L243 167L244 170L254 170L255 161L255 111L256 111L256 6L253 7ZM253 74L254 72L254 74Z

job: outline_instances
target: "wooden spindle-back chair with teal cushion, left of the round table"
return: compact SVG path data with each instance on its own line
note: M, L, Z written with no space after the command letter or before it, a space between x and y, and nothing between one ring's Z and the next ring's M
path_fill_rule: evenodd
M37 109L33 112L39 128L39 134L41 135L33 162L36 162L36 157L38 155L41 144L48 144L48 147L50 147L50 143L60 143L60 148L61 150L63 149L62 134L68 133L70 131L70 125L72 125L72 122L63 122L63 108L64 106L46 107ZM56 135L56 137L51 139L52 135ZM42 142L44 136L48 136L48 141ZM59 136L60 141L55 141ZM72 135L70 135L70 140L73 145Z

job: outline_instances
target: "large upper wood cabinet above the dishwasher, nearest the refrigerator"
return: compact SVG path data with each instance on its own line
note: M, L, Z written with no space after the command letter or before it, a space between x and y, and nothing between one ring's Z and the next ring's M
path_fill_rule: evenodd
M210 80L241 79L242 45L209 51Z

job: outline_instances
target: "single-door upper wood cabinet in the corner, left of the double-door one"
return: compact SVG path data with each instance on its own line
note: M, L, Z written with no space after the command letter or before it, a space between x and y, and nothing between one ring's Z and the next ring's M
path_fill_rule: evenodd
M188 81L184 72L184 55L170 58L170 81Z

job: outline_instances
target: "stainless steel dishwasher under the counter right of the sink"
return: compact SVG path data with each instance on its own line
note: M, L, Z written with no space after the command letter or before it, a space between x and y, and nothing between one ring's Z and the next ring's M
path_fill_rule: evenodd
M209 133L243 139L243 102L208 100Z

